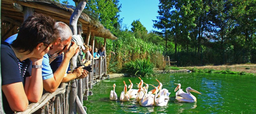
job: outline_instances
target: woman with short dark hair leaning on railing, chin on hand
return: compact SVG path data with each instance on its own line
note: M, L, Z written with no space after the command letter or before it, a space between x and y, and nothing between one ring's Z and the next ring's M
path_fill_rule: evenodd
M27 109L43 91L42 58L58 38L54 20L33 14L19 29L16 40L1 43L3 107L6 114ZM26 83L25 83L26 82Z

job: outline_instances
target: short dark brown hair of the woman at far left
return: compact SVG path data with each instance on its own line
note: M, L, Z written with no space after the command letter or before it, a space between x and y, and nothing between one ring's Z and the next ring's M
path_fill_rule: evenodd
M34 13L21 25L16 40L11 44L22 52L33 52L39 43L50 45L57 41L59 32L55 21L43 14ZM29 54L28 53L28 54Z

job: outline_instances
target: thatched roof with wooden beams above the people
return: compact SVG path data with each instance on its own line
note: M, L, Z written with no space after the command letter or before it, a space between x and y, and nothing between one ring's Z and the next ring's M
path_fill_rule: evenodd
M63 5L51 0L1 0L1 19L12 20L17 23L23 22L24 14L14 8L13 3L22 6L32 7L34 12L51 16L53 19L62 21L69 25L69 19L75 7L71 5ZM88 3L90 4L90 3ZM80 15L77 24L82 24L83 34L87 34L87 27L95 36L115 40L115 37L108 29L104 28L98 20L97 14L84 10ZM15 22L15 23L16 23Z

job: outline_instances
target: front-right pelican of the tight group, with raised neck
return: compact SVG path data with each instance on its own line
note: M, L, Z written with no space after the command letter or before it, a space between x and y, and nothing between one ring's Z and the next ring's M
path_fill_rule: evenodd
M151 85L151 84L150 84ZM152 85L153 86L153 85ZM166 96L164 95L164 96L161 96L160 94L160 97L158 97L157 98L157 92L158 92L158 89L157 89L157 87L155 87L155 86L153 86L155 89L155 92L154 93L152 93L152 94L155 94L155 96L154 96L154 105L155 106L166 106L167 105L167 103L168 103L168 101L169 101L169 97L167 97L166 98Z

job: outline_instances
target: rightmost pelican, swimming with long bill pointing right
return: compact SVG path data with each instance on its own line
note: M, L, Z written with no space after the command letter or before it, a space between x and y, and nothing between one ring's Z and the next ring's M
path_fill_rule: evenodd
M200 92L192 89L191 87L187 87L186 88L187 93L179 93L177 96L180 96L181 98L175 98L176 100L178 100L179 102L195 102L196 98L195 96L193 96L191 92L196 92L198 94L201 94Z

